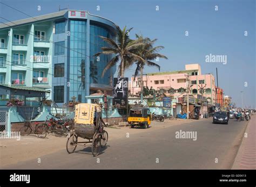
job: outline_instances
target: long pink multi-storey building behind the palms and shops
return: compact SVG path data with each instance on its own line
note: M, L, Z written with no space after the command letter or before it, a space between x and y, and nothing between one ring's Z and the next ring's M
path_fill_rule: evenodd
M214 105L215 99L215 78L213 74L201 74L201 67L199 64L186 64L185 70L168 71L161 73L152 73L143 76L144 87L152 87L156 93L165 93L173 99L183 97L186 95L186 75L189 75L190 97L195 98L196 102L203 97L208 101L208 104ZM130 95L137 95L140 92L140 77L136 77L129 84ZM205 86L203 93L201 93L200 86ZM206 99L205 99L206 98ZM178 102L178 99L177 99Z

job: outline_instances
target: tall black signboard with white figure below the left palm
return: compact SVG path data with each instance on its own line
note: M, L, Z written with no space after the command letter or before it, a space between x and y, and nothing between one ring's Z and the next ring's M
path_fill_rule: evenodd
M113 84L113 104L122 107L127 106L128 78L114 78Z

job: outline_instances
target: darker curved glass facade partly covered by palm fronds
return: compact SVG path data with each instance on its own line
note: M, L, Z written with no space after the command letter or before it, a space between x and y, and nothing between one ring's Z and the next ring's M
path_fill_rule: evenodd
M90 25L90 83L110 85L111 69L107 70L102 77L103 69L111 60L111 55L93 56L102 51L102 47L106 47L107 43L99 36L110 38L110 33L104 27L98 25Z

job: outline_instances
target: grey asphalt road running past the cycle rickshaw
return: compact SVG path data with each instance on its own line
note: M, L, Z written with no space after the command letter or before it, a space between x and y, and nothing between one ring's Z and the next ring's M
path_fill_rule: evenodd
M212 118L112 139L93 157L90 144L65 149L4 169L231 169L247 121L230 119L228 125ZM140 129L137 129L140 131ZM176 132L197 132L197 139L177 139ZM109 134L111 136L111 134ZM80 139L81 141L82 139Z

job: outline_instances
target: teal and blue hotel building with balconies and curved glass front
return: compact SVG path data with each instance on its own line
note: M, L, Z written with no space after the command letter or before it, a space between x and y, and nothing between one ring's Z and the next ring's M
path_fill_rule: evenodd
M114 23L81 10L0 24L0 84L49 90L58 105L98 89L112 95L116 67L102 77L111 55L94 56L107 46L99 36L115 39Z

